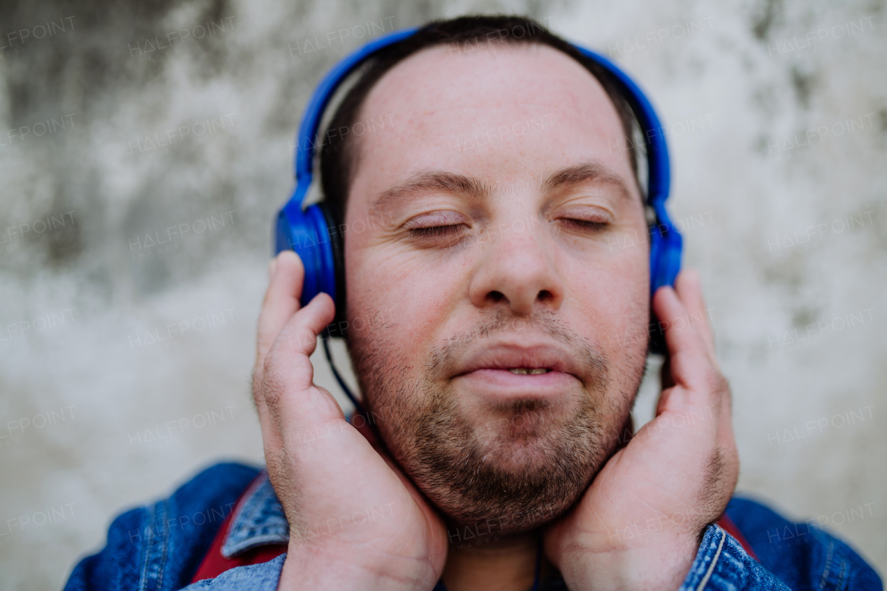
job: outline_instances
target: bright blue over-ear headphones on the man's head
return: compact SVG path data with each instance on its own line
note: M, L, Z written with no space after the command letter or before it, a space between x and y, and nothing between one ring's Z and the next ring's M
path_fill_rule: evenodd
M275 225L274 252L292 248L302 259L305 280L302 305L320 292L333 296L336 311L344 308L344 290L338 285L341 269L341 235L332 213L318 203L302 209L313 176L315 145L326 106L348 75L376 51L397 43L415 33L409 28L385 35L351 53L326 75L311 96L302 124L295 138L295 189L287 204L280 209ZM671 172L663 128L653 106L638 85L609 59L594 51L576 46L616 78L616 83L640 123L647 146L648 205L655 212L655 225L648 229L650 240L650 294L663 285L671 285L680 269L681 238L665 210ZM337 292L337 288L341 291ZM326 344L326 341L325 341Z

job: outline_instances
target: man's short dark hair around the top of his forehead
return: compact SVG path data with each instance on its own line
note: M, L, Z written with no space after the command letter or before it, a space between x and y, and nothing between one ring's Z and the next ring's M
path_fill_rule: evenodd
M476 47L478 43L538 43L566 53L585 67L603 86L622 122L625 145L632 146L637 120L632 107L619 91L614 76L535 20L516 16L464 16L451 20L435 20L420 28L414 35L392 43L367 60L357 81L336 108L320 146L320 179L324 201L327 202L327 210L334 217L336 225L341 225L344 221L357 156L351 139L354 134L341 134L338 130L351 129L366 96L389 69L413 53L448 43L461 43L466 49ZM633 148L628 149L628 153L635 182L640 187L637 154Z

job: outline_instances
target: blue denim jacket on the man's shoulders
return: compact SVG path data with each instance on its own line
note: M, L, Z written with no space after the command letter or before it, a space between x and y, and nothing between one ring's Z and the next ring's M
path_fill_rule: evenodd
M286 555L189 586L219 526L258 475L258 469L241 464L217 464L169 499L118 516L108 530L106 547L77 564L65 591L274 591ZM815 526L789 523L752 500L734 498L726 513L760 562L731 535L710 525L679 591L883 589L881 579L860 556ZM269 543L286 544L288 530L283 509L265 479L232 517L222 553L235 556ZM566 589L562 579L545 587L545 591Z

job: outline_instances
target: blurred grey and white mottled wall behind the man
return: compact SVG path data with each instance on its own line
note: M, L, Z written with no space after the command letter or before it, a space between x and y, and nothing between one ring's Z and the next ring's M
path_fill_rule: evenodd
M371 21L467 12L546 20L655 98L739 489L887 570L883 1L107 4L0 4L0 587L59 588L123 508L261 461L255 320L302 107Z

